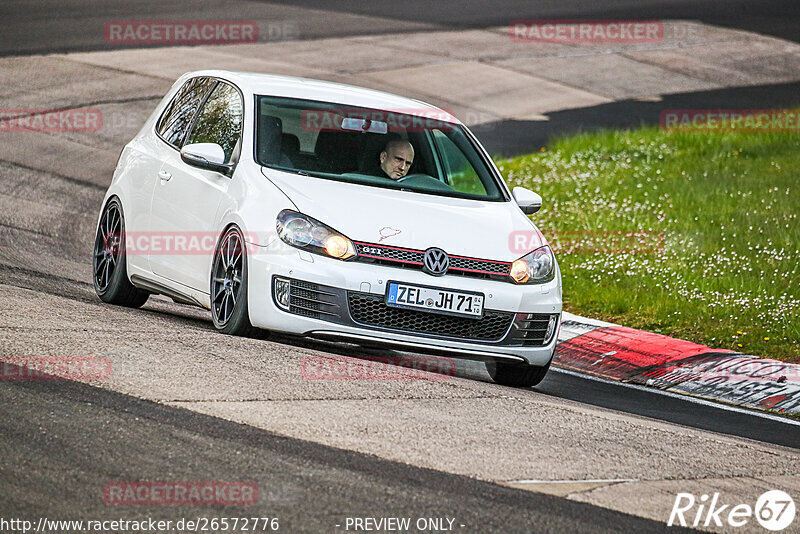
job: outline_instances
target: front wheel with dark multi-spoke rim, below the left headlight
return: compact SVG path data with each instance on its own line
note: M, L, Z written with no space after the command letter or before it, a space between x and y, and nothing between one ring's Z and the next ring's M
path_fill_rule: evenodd
M231 336L263 337L250 324L247 308L247 254L242 232L231 226L222 234L211 266L211 318Z

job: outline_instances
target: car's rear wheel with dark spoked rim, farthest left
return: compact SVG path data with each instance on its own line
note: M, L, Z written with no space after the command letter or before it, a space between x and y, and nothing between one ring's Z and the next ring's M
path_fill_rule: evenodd
M97 225L92 273L95 293L103 302L140 308L150 297L150 293L137 289L128 280L125 217L122 204L116 197L108 201Z

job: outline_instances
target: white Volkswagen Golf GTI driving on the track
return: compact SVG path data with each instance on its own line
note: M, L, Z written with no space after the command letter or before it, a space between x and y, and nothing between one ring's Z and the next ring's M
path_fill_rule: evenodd
M516 187L449 113L309 79L183 75L123 149L103 200L95 290L162 294L255 328L547 373L561 274Z

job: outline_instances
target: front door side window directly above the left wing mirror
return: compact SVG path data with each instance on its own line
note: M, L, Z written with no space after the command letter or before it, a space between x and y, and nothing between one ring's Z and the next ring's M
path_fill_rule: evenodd
M230 163L242 135L242 97L231 85L220 82L206 100L186 144L216 143Z

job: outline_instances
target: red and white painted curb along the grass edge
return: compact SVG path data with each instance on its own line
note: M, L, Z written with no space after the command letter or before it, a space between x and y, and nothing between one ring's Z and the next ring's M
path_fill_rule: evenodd
M729 404L800 414L800 365L564 313L557 367Z

